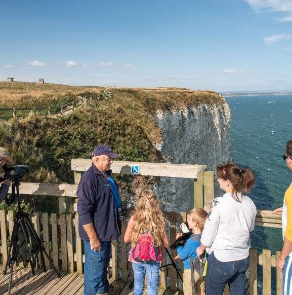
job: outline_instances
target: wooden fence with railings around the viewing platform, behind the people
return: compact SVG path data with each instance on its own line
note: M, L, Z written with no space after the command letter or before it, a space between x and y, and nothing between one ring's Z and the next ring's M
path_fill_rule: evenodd
M32 215L32 223L37 231L47 242L47 251L52 257L53 263L57 268L60 268L68 272L83 272L84 267L84 254L82 249L82 242L78 236L78 214L69 214L67 212L67 202L69 197L73 197L76 200L77 183L81 177L81 172L90 165L88 160L73 159L72 170L75 172L75 185L67 184L52 184L52 183L21 183L19 187L20 194L25 195L42 195L50 198L50 196L58 196L59 202L59 214L56 213L39 213L34 212ZM181 165L181 164L161 164L161 163L134 163L140 165L141 175L153 175L161 173L163 176L176 173L173 177L188 177L194 178L195 197L204 195L200 192L200 189L207 194L211 194L211 188L214 186L213 177L210 177L210 171L205 171L203 165ZM133 162L119 162L115 161L112 165L114 173L129 173L129 169L133 165ZM174 166L176 169L174 169ZM130 168L129 168L130 167ZM143 167L143 168L142 168ZM157 172L157 168L159 171ZM187 173L186 173L187 171ZM211 172L211 175L213 172ZM200 175L201 174L201 175ZM192 176L192 177L191 177ZM198 182L198 178L201 178ZM212 186L211 186L212 179ZM198 183L197 183L198 182ZM213 189L214 190L214 189ZM213 191L214 192L214 191ZM208 195L207 195L208 196ZM202 203L204 200L210 202L207 196L204 196L202 200L195 201L195 203ZM128 262L127 253L129 251L129 245L123 242L123 235L127 228L127 221L130 216L131 209L127 212L127 219L122 221L122 236L118 241L112 242L112 257L110 261L110 268L112 270L113 280L121 279L122 281L128 281L133 278L133 270L131 263ZM188 220L188 215L185 212L165 212L166 218L170 220L176 227L182 222ZM271 211L258 210L256 217L256 226L275 227L281 228L281 215L273 215ZM5 212L0 210L0 231L1 231L1 246L0 253L2 255L3 263L7 260L8 243L7 239L11 236L13 227L13 212ZM176 236L176 229L170 227L167 229L170 233L170 242L174 242ZM119 251L118 251L119 249ZM163 264L166 264L168 257L165 250L163 255ZM172 257L176 255L175 251L170 251ZM271 268L275 267L276 256L279 254L271 254L270 250L264 249L262 252L257 252L256 249L250 250L250 294L258 294L258 272L257 267L263 267L263 294L271 294ZM48 261L46 261L48 266ZM177 266L182 273L182 262L178 261ZM167 278L171 278L169 281ZM168 285L170 282L170 285ZM174 268L167 267L160 272L160 286L163 289L171 287L173 290L178 288L178 276ZM282 273L277 271L277 295L281 294ZM224 294L228 294L228 289Z

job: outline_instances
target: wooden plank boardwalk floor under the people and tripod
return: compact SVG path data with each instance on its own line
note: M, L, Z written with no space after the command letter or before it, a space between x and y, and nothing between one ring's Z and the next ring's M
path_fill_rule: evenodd
M3 274L4 266L0 267L0 295L7 294L10 269L6 275ZM112 281L110 281L112 283ZM11 295L83 295L84 275L61 272L58 278L53 270L44 273L43 269L35 270L35 275L29 268L15 267L12 277ZM130 289L130 282L113 282L121 287L121 295L133 295L133 288ZM144 295L147 294L145 289ZM158 288L158 295L179 295L179 292L163 290Z

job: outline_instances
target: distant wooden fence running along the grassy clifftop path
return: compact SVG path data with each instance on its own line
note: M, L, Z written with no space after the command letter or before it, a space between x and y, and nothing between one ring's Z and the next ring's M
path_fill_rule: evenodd
M12 107L12 108L0 108L0 119L10 119L10 118L18 118L18 117L26 117L31 112L38 116L56 116L56 115L65 115L68 112L74 112L74 110L80 106L87 106L91 104L94 99L101 100L106 99L111 96L111 92L104 90L100 95L97 95L96 98L93 97L81 97L78 96L78 99L74 101L70 101L66 104L59 106L38 106L38 107ZM6 116L3 116L2 114Z

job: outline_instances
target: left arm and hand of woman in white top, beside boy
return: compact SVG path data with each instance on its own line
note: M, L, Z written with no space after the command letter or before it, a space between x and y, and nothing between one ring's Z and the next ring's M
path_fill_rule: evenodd
M217 235L217 230L220 222L219 218L219 200L218 198L214 199L211 204L208 217L204 224L204 229L201 237L201 245L197 248L197 256L200 257L201 254L207 247L210 247Z

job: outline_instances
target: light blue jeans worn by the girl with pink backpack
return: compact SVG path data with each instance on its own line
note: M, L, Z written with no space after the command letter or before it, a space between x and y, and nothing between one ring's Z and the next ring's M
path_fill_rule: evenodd
M132 263L132 266L134 271L134 295L143 294L145 271L148 295L157 295L160 263Z

